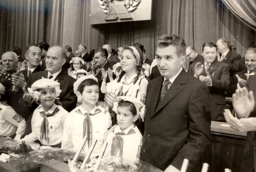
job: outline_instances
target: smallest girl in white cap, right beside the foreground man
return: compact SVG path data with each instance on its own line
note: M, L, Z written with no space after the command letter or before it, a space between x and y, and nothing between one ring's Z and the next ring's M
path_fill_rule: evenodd
M144 118L145 105L135 97L117 97L114 112L117 113L117 123L108 133L104 157L122 156L128 160L139 159L142 145L142 134L134 122Z

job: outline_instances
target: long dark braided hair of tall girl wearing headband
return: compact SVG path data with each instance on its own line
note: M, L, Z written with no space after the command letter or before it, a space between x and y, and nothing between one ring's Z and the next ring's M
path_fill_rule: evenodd
M141 71L141 69L142 69L142 64L143 64L143 55L142 55L142 51L140 50L139 47L137 47L137 46L134 46L134 47L138 50L138 52L139 52L139 57L140 57L140 58L139 58L139 65L137 66L137 76L136 76L136 78L135 78L133 84L135 84L135 83L138 81L139 76L141 75L140 71ZM134 53L134 51L133 51L132 48L130 48L130 47L124 47L124 48L123 48L123 51L124 51L124 50L130 50L131 53L133 54L134 58L136 58L136 55L135 55L135 53ZM120 76L119 76L117 82L120 82L120 80L121 80L121 78L123 77L124 74L125 74L124 71L122 71L122 72L120 73Z

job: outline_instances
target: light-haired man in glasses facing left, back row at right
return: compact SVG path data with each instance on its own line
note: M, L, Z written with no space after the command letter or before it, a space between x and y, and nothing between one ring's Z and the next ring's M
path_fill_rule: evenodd
M218 61L228 64L230 78L232 78L234 73L239 72L238 67L241 60L241 55L229 49L229 41L226 38L218 39L216 45L219 54L222 54Z

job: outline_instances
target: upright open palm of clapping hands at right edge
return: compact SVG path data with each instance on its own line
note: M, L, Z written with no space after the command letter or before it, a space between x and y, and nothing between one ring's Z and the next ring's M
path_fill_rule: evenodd
M239 118L248 118L255 105L253 91L248 93L247 88L241 88L239 85L237 87L232 96L234 110Z

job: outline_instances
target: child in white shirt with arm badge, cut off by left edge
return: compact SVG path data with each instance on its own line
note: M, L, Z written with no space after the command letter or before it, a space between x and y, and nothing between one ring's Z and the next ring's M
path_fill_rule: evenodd
M26 121L11 106L2 101L5 88L0 83L0 136L14 137L19 140L26 130Z

